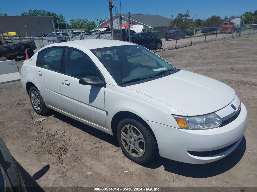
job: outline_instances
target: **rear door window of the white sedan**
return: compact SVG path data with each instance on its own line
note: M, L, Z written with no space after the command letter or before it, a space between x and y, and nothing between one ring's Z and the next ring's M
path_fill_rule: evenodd
M36 66L60 72L61 56L63 50L63 47L53 47L45 49L38 54Z

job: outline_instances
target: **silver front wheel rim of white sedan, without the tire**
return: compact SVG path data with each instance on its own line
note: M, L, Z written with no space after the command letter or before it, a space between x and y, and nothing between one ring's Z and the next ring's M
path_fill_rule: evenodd
M133 125L125 125L121 129L121 142L132 157L142 157L145 152L145 140L142 133Z

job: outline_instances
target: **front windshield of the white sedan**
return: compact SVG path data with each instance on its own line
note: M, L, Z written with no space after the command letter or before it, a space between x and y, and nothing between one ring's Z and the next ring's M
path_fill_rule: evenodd
M117 84L136 78L152 77L160 71L177 71L161 57L140 45L91 49Z

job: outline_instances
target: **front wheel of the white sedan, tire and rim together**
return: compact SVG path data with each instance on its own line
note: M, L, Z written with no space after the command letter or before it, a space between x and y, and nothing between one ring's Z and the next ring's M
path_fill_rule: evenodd
M158 154L152 133L137 120L121 120L117 137L123 154L135 163L148 163Z

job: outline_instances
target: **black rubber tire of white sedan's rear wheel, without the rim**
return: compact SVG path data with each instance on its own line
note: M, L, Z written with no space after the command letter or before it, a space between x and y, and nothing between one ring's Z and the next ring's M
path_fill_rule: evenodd
M32 95L31 95L32 92L37 94L38 97L37 96L35 96L35 97L37 98L37 100L40 101L40 109L39 110L38 110L38 108L36 108L36 106L38 106L38 105L35 103L35 105L36 105L35 106L34 103L33 103L33 102L35 102L35 100L32 101L33 100ZM29 96L30 96L30 103L32 105L32 108L34 109L34 111L37 114L42 115L42 114L47 113L47 112L50 111L50 109L47 108L41 93L39 92L39 90L36 87L34 87L34 86L30 87Z

